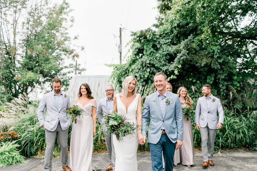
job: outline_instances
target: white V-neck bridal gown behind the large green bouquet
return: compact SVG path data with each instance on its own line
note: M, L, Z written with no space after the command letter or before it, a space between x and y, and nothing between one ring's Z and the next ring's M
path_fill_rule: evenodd
M117 111L119 115L125 115L127 121L130 123L136 123L136 110L138 104L138 96L132 101L128 106L128 111L126 112L126 107L122 103L119 94L117 97ZM113 145L115 148L115 171L137 171L137 159L136 152L138 147L137 129L133 137L126 136L123 137L123 141L118 141L116 136L113 135Z

